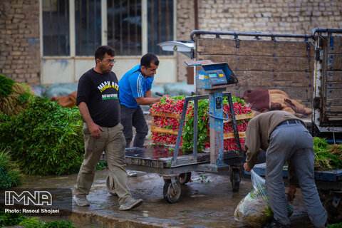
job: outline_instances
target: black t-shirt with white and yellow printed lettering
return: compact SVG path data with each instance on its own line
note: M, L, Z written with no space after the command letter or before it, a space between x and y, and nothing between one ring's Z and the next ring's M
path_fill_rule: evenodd
M119 85L115 73L101 74L93 69L78 81L76 105L84 101L94 123L112 128L120 122Z

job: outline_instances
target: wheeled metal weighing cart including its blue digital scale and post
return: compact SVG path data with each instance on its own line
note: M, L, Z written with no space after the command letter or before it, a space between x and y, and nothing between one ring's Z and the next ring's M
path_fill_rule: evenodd
M186 97L180 118L177 141L173 147L148 146L146 148L132 148L126 150L126 164L128 169L143 172L157 173L165 181L163 195L167 202L175 203L180 200L181 185L189 182L191 172L230 172L230 181L233 191L239 191L241 180L240 167L244 160L242 148L237 130L237 121L234 114L231 93L223 93L227 85L237 83L237 78L230 70L227 63L212 63L212 61L192 61L188 66L201 66L202 71L197 75L197 88L204 88L208 95L196 95ZM227 96L229 108L232 113L234 139L237 142L236 151L224 151L223 144L223 121L224 117L222 97ZM197 153L197 124L198 124L198 101L209 99L209 128L210 128L210 151ZM194 106L194 133L193 152L187 153L180 149L182 131L185 125L187 106L193 102ZM104 157L103 157L104 159ZM108 175L107 187L110 194L115 195L115 183L113 177Z

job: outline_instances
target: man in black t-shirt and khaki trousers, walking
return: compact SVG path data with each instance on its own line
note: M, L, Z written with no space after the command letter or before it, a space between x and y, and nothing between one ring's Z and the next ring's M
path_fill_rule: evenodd
M73 200L78 206L89 206L86 195L94 180L96 165L103 151L113 176L120 210L128 210L142 204L133 199L125 170L125 137L120 124L118 78L111 70L115 63L114 50L99 46L95 51L95 68L90 69L78 81L76 105L83 123L85 154L78 172Z

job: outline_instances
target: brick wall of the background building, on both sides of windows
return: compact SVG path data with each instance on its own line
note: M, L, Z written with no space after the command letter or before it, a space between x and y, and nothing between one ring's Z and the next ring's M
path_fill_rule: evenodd
M342 28L339 0L197 0L199 29L310 33ZM177 40L195 29L194 1L177 0ZM178 80L185 80L186 56L177 53ZM0 73L28 85L40 82L39 0L0 1Z

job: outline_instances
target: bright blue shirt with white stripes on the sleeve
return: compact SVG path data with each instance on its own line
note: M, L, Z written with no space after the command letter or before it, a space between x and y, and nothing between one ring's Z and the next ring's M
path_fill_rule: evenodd
M125 73L119 81L119 100L120 104L128 108L137 108L138 103L135 98L144 97L147 90L152 87L152 78L142 76L140 65L133 67Z

